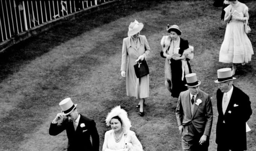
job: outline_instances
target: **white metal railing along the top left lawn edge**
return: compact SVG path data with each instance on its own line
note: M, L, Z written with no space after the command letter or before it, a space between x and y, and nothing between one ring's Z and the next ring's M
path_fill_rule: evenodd
M0 0L0 42L109 0Z

